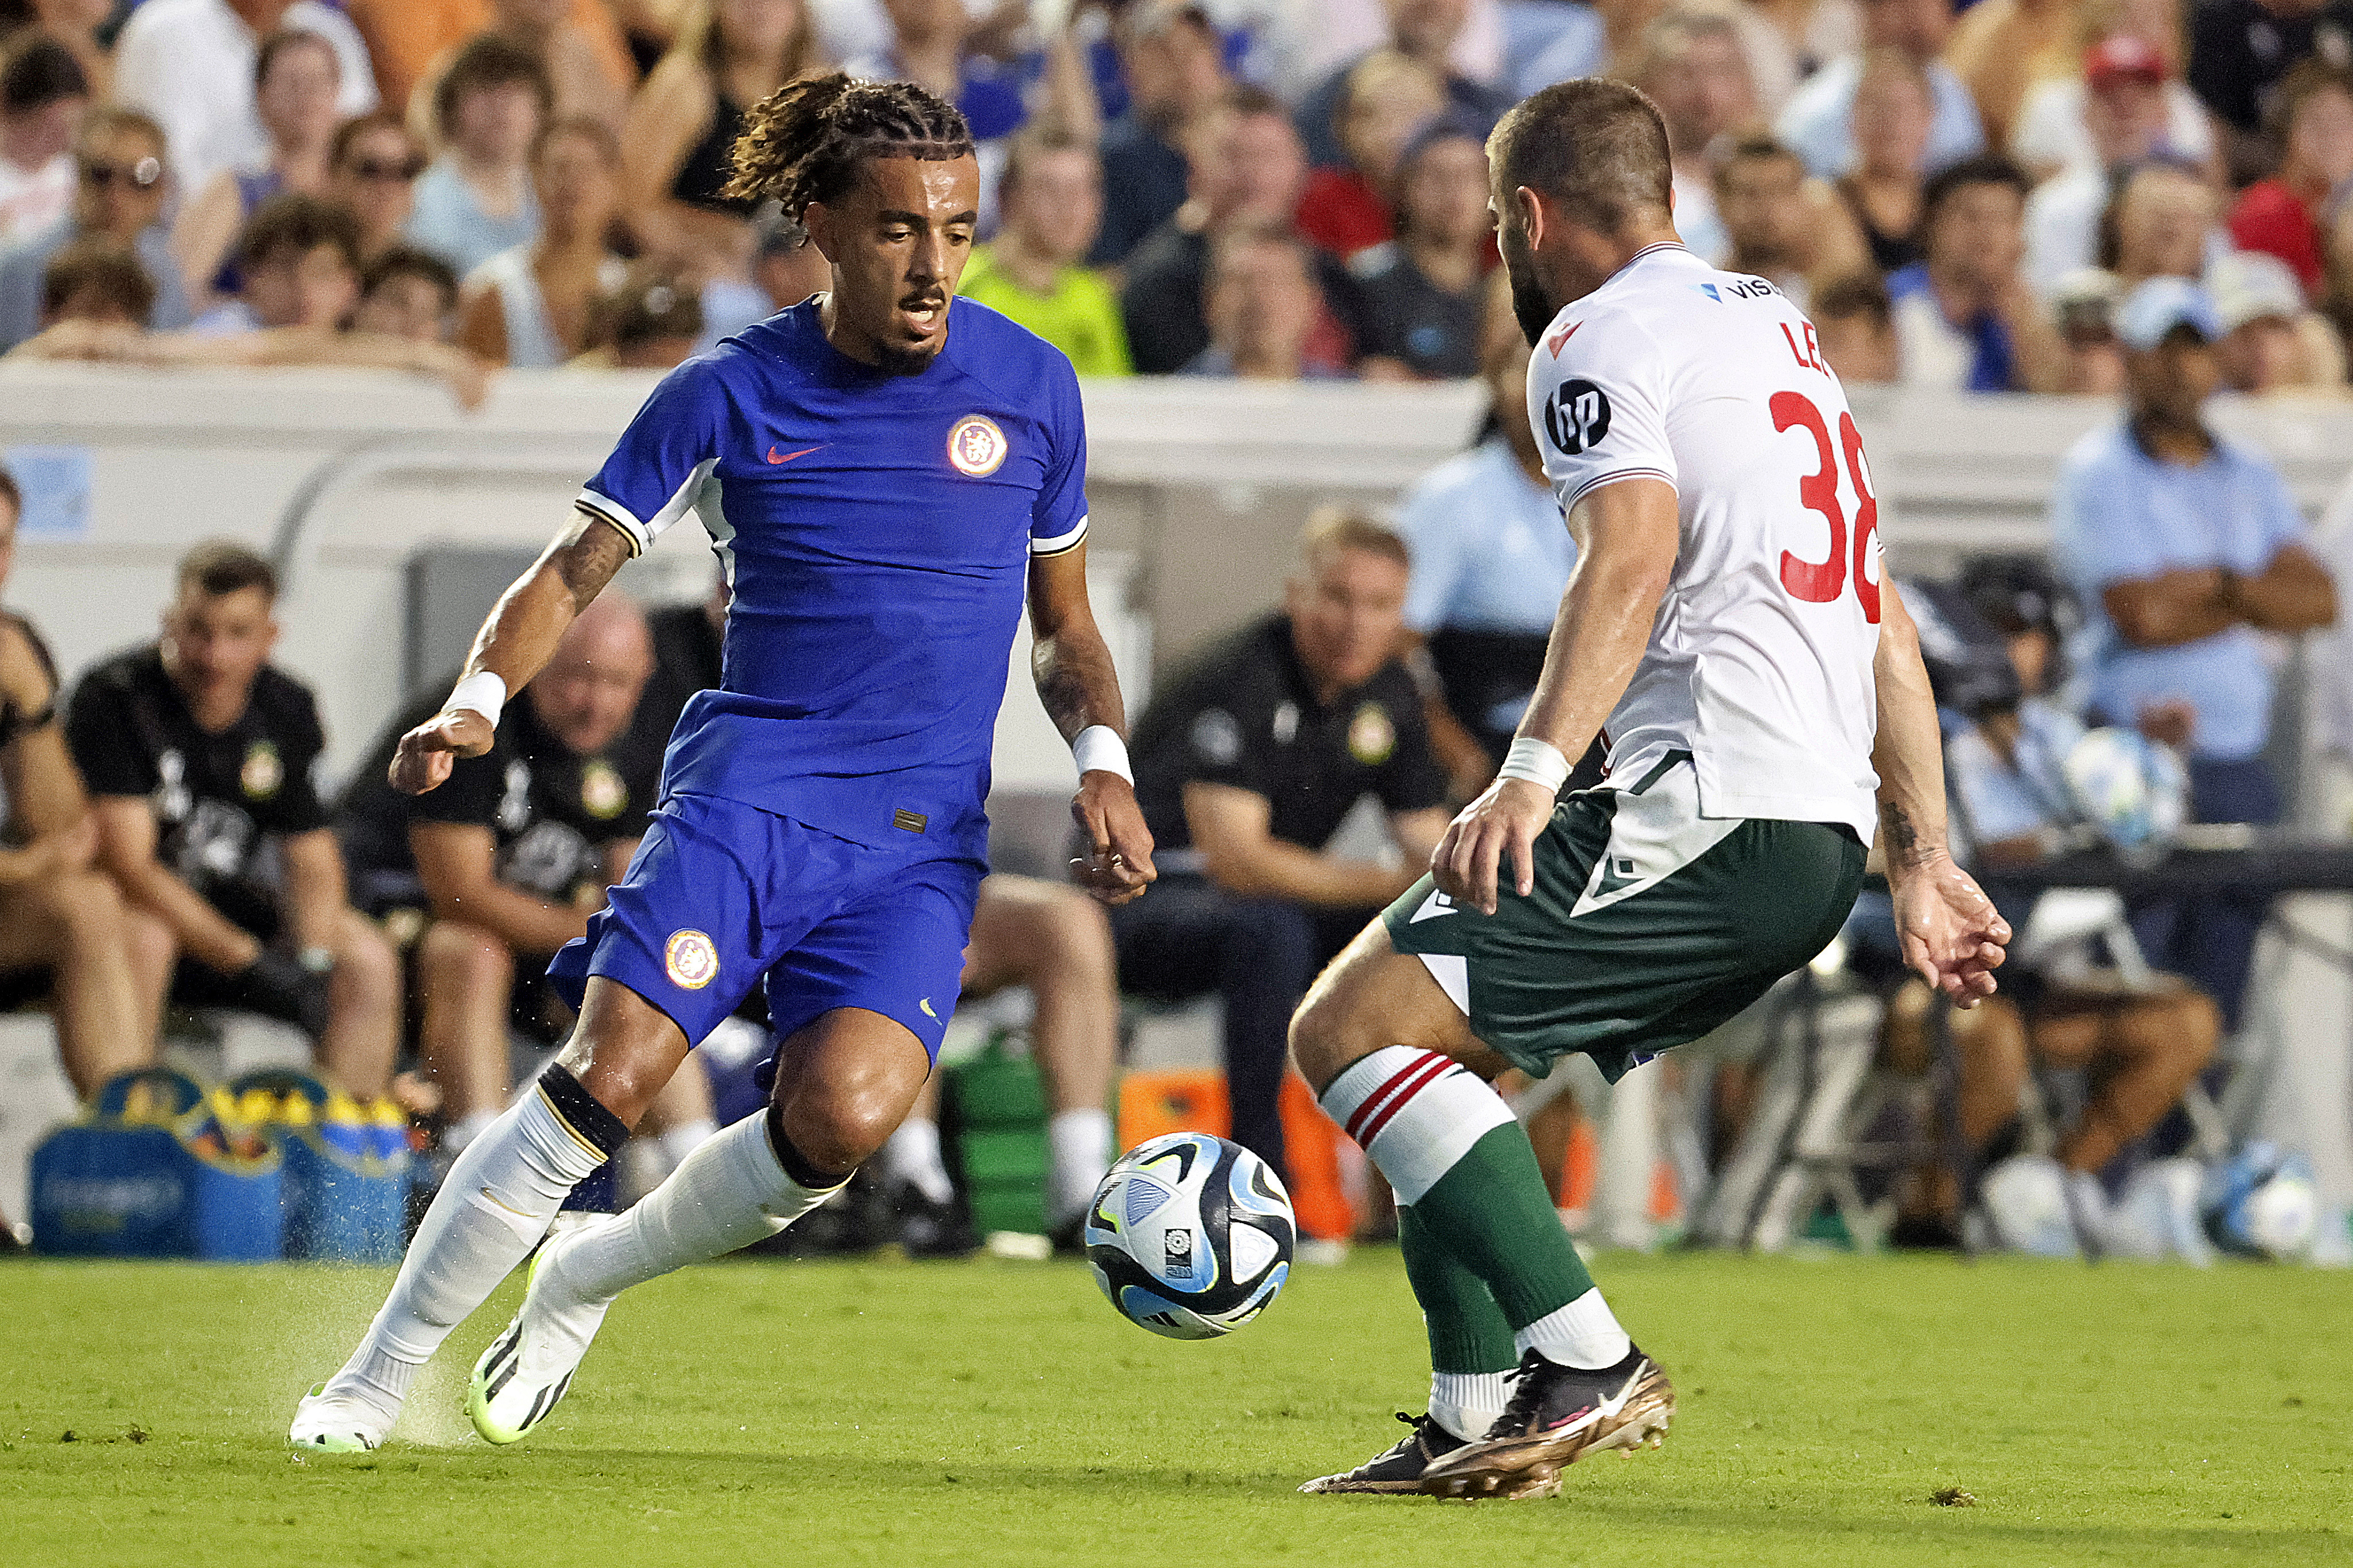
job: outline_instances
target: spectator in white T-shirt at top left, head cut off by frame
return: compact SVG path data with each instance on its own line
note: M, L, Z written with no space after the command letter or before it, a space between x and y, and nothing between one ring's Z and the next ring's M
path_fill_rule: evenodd
M367 45L344 12L318 0L144 0L122 26L115 101L162 127L181 190L202 190L221 169L268 158L254 113L254 52L278 28L304 28L334 45L344 66L341 113L365 115L376 106Z

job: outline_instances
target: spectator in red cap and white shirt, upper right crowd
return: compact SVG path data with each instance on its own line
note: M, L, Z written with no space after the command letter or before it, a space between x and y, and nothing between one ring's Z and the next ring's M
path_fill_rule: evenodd
M2214 122L2181 82L2177 0L2094 0L2078 16L2082 59L2028 89L2009 132L2009 155L2035 179L2155 155L2219 174ZM2118 118L2125 125L2115 125Z

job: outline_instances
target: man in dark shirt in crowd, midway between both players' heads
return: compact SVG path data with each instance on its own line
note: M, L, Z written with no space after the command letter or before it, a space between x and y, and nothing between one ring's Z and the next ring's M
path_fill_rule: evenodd
M1167 376L1209 348L1207 299L1209 244L1235 228L1287 228L1306 183L1306 158L1289 115L1271 94L1235 87L1191 136L1191 195L1127 259L1120 287L1120 320L1127 353L1146 376ZM1344 296L1346 270L1315 259L1325 299ZM1329 320L1315 334L1313 355L1344 362L1348 343Z

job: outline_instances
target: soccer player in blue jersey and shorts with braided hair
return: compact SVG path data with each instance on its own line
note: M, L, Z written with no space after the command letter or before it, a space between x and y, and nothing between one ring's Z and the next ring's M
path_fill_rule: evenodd
M445 710L402 738L393 783L424 792L482 755L506 693L687 512L734 585L725 684L687 705L628 877L551 966L572 1041L456 1159L367 1338L301 1401L296 1448L386 1439L416 1368L753 985L781 1041L769 1107L628 1213L546 1244L475 1366L475 1429L525 1436L621 1291L791 1225L882 1147L955 1009L1024 585L1038 696L1080 764L1080 877L1108 903L1153 879L1087 607L1078 381L955 299L979 214L962 115L906 82L791 82L751 110L729 193L776 197L831 292L654 390Z

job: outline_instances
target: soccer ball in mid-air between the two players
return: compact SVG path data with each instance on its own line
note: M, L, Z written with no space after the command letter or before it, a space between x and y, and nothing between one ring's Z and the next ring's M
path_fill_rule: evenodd
M1266 1312L1299 1225L1282 1178L1212 1133L1129 1150L1087 1211L1087 1267L1129 1324L1214 1340Z

